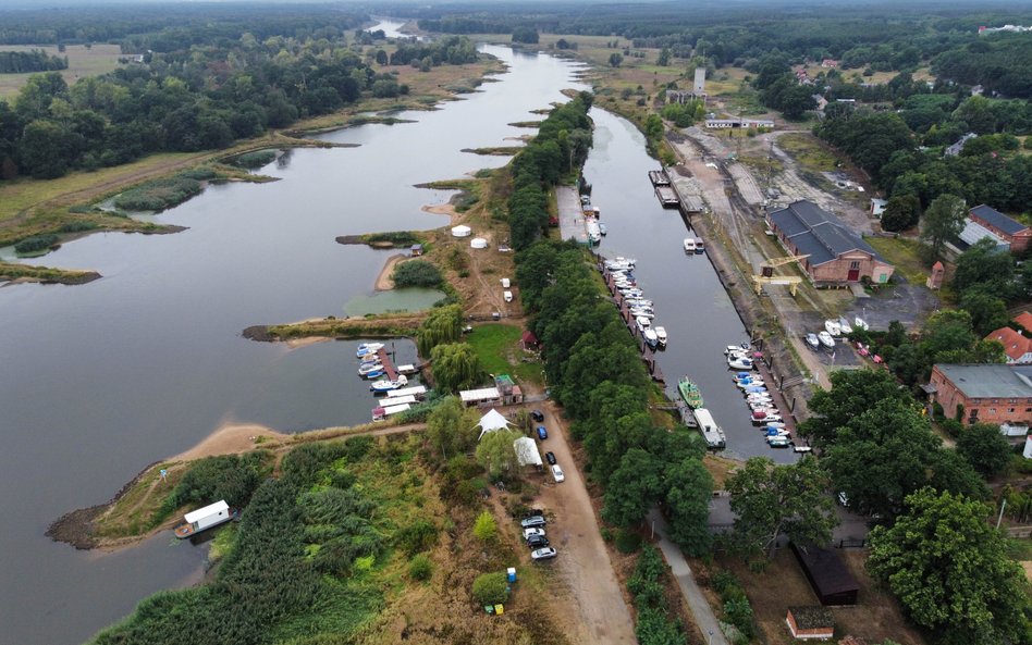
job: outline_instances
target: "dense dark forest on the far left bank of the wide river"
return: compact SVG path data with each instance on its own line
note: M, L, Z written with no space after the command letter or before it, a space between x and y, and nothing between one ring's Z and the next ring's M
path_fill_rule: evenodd
M354 40L368 37L349 40L347 32L365 17L321 11L322 20L263 10L248 17L251 11L241 9L224 22L209 16L196 29L187 20L126 35L123 51L145 51L142 64L71 87L56 72L33 76L12 103L0 101L0 179L59 177L156 151L223 148L333 112L363 92L407 94L382 65L477 60L472 44L458 36L403 45L390 61L385 53L367 60ZM124 29L134 26L126 20Z

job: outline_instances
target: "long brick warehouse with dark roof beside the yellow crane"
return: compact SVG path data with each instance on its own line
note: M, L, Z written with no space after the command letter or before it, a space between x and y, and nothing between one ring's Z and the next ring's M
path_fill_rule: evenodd
M790 255L807 256L799 263L818 285L863 278L884 284L893 275L893 265L871 245L811 201L796 201L771 212L767 224Z

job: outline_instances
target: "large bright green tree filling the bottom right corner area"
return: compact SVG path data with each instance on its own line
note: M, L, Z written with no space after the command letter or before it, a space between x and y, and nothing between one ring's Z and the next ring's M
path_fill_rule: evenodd
M910 618L947 643L1028 643L1024 575L986 522L990 507L924 488L906 508L871 532L868 568Z

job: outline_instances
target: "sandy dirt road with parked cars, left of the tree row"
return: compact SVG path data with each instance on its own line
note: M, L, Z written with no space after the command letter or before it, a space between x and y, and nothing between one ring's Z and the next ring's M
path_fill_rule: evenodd
M575 643L636 643L634 621L613 573L599 522L583 477L574 463L566 443L566 427L553 404L540 407L549 438L544 450L555 454L566 481L546 486L540 503L555 513L546 528L558 556L552 562L568 585L574 608L580 616L582 633L567 634Z

